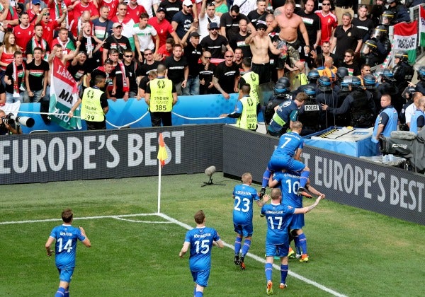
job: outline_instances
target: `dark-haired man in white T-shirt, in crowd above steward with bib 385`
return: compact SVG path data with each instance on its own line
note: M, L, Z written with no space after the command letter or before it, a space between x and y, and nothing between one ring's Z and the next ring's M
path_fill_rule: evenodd
M152 25L149 25L149 16L147 13L140 13L140 20L138 25L133 27L133 37L135 40L136 55L138 56L138 61L143 62L142 51L149 49L154 51L159 49L159 36L157 30ZM152 38L155 40L155 43L152 41Z

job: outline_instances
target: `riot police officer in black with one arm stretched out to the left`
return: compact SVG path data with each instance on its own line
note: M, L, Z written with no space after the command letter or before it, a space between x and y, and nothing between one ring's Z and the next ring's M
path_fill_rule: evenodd
M322 105L322 109L328 110L329 113L335 115L341 115L349 111L351 113L352 127L372 127L375 113L375 103L373 102L372 94L362 88L360 78L348 76L344 80L347 81L351 93L346 97L341 107L333 108L328 105Z

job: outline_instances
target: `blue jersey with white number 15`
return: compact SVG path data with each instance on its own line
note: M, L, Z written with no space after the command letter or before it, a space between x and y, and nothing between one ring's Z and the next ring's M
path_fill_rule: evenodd
M191 243L189 267L193 272L200 272L211 267L212 241L220 240L214 228L194 228L186 232L185 243Z

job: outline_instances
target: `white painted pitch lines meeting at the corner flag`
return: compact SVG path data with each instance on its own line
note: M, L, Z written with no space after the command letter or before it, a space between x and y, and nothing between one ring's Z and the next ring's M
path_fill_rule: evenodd
M75 220L77 221L77 220L91 220L91 219L120 219L120 220L123 220L123 221L131 221L131 222L137 222L137 223L166 223L166 222L152 222L152 221L147 222L147 221L136 221L136 220L121 219L121 218L128 218L128 217L132 217L132 216L160 216L160 217L166 219L167 221L169 221L171 223L175 223L176 225L179 225L183 228L186 228L187 230L193 229L193 226L190 226L190 225L183 223L181 221L177 221L176 219L173 219L170 216L167 216L166 214L158 214L158 213L154 213L154 214L122 214L122 215L118 215L118 216L116 216L116 215L115 216L84 216L84 217L81 217L81 218L76 218ZM62 220L60 220L60 219L42 219L42 220L28 220L28 221L6 221L6 222L0 222L0 225L9 225L9 224L13 224L13 223L40 223L40 222L50 222L50 221L62 221ZM233 245L229 245L228 243L225 243L224 241L223 241L223 244L227 248L234 250ZM262 257L251 254L250 252L248 252L246 255L251 257L252 259L258 261L258 262L266 264L266 260L264 260ZM273 267L280 271L280 266L278 266L277 264L273 264ZM323 286L322 284L319 284L316 281L312 281L311 279L307 279L306 277L301 276L300 274L296 274L295 272L291 272L290 270L288 271L288 274L290 276L293 276L295 279L299 279L300 281L304 281L307 284L311 284L312 286L315 286L316 288L321 289L322 291L330 293L334 296L347 297L344 294L338 293L338 292L336 292L332 289L329 289L327 286Z

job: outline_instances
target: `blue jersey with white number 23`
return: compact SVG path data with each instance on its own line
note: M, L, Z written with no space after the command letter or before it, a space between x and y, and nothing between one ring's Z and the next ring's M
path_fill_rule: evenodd
M253 203L260 199L254 187L237 185L233 189L233 197L233 223L242 226L252 223Z

